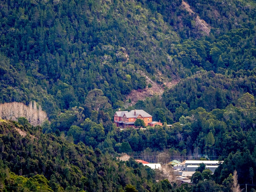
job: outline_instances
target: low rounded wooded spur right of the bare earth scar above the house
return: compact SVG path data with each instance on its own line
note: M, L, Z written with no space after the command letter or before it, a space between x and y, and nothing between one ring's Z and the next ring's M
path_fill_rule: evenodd
M255 89L252 88L255 87L253 71L248 71L249 78L242 77L239 72L225 76L215 74L213 71L200 71L181 81L178 86L164 95L166 106L175 113L175 120L185 112L184 108L181 108L182 110L179 108L181 102L185 102L190 110L198 107L203 107L206 111L224 109L228 104L236 102L243 93L256 95Z

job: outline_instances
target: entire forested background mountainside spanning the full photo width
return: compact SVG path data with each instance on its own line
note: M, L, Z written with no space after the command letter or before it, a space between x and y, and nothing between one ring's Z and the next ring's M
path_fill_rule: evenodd
M54 118L94 88L122 107L146 75L160 86L198 67L252 70L254 2L188 3L193 13L182 1L1 1L1 102L36 100Z

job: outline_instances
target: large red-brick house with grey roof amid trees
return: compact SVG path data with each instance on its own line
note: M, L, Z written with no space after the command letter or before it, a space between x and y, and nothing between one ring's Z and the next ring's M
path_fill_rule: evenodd
M142 119L145 126L148 126L152 122L152 116L149 115L144 110L131 110L131 111L121 111L120 109L114 114L114 123L117 127L128 128L134 127L134 122L136 119Z

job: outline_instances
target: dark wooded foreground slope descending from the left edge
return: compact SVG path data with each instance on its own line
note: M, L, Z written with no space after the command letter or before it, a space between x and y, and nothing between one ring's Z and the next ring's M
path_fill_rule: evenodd
M70 143L63 135L44 135L34 130L22 137L15 128L22 129L22 126L0 122L0 143L4 145L0 184L4 188L17 187L17 183L20 188L47 191L118 191L120 188L136 191L134 185L153 189L155 172L132 159L125 165L108 153L102 154L98 148L93 151L82 142Z

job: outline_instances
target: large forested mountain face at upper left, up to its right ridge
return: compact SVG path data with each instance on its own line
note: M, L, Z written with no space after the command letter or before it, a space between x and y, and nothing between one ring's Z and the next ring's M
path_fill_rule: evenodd
M2 1L1 7L0 102L36 100L52 120L85 105L91 90L102 90L115 106L132 89L146 88L145 75L173 74L164 65L180 39L138 2Z

